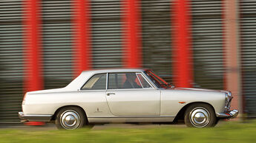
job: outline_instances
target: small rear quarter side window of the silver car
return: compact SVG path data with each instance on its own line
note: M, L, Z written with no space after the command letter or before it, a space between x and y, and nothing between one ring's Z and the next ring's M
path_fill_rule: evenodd
M82 90L104 90L106 89L107 74L95 74L85 83Z

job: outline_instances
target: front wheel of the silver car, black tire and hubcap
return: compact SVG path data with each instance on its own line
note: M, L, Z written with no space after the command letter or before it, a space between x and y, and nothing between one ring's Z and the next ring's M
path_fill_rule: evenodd
M217 124L217 117L211 105L195 103L186 109L184 121L191 128L214 127Z

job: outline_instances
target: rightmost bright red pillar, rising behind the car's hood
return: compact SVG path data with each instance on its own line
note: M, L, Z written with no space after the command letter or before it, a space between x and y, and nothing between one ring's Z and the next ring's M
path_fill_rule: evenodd
M190 11L188 0L175 0L171 13L173 25L173 73L177 87L190 87L192 83L192 56L190 39Z

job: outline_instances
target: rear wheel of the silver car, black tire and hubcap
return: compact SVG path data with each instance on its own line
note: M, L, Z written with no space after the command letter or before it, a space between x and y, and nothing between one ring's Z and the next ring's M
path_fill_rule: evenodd
M85 112L78 107L61 108L56 114L55 125L58 129L74 130L87 123Z

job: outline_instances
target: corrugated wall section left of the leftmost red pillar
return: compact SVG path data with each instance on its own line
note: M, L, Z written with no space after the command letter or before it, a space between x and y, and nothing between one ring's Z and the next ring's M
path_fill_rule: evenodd
M0 1L0 122L19 122L23 98L22 0Z

